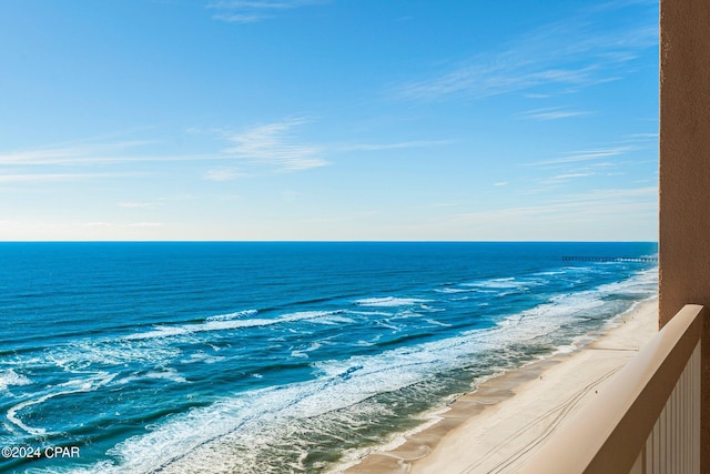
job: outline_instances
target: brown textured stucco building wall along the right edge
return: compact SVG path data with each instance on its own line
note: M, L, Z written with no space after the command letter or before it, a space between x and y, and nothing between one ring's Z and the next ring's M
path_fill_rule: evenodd
M710 305L710 1L660 1L659 323ZM702 472L710 472L710 324L702 341Z

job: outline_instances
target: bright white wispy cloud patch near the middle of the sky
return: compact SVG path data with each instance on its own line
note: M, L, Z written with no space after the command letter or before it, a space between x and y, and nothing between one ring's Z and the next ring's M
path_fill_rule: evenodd
M234 145L223 151L227 157L275 167L280 171L300 171L329 164L322 158L322 148L303 143L293 135L292 131L305 123L306 119L293 119L227 134L226 139Z

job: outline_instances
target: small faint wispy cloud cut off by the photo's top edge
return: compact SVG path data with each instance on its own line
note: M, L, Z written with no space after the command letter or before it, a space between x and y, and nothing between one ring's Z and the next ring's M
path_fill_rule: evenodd
M255 23L274 18L276 12L325 3L325 0L223 0L209 2L215 20L227 23Z

